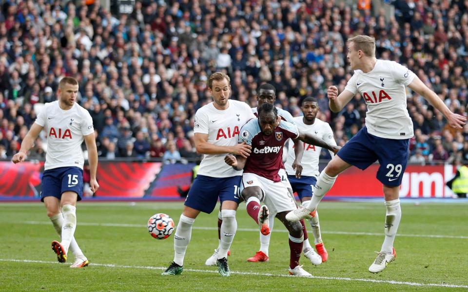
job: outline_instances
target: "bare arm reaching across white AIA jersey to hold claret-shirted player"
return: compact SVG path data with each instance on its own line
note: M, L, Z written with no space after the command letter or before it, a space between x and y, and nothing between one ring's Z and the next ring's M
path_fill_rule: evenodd
M233 153L244 158L249 157L252 147L245 143L235 146L218 146L208 142L208 134L195 133L195 147L198 154L226 154Z

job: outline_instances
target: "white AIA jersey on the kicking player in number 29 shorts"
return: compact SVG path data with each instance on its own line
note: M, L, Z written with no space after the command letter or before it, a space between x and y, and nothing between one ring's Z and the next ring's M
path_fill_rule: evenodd
M355 70L345 90L359 92L367 104L366 127L370 134L389 139L409 139L413 123L406 89L416 75L394 61L377 60L369 73Z

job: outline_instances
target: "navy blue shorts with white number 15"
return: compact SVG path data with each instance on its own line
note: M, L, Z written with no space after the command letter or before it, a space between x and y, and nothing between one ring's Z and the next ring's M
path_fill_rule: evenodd
M83 170L81 168L70 166L44 171L40 201L43 202L45 197L50 196L60 200L62 194L69 191L77 193L77 201L81 200L83 194Z

